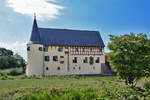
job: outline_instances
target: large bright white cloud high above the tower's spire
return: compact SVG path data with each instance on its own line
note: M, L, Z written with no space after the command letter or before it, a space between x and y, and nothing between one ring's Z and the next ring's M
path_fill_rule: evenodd
M36 13L38 20L56 19L63 6L54 4L57 0L7 0L8 7L17 13L32 16Z

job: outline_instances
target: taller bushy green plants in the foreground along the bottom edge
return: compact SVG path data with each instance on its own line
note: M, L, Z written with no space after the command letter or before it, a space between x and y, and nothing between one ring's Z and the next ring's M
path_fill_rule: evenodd
M17 96L11 98L14 100L143 100L144 98L150 99L150 94L147 92L136 91L131 88L123 87L103 87L103 89L32 88L27 90L15 90L14 92L17 93ZM11 94L13 94L13 92Z

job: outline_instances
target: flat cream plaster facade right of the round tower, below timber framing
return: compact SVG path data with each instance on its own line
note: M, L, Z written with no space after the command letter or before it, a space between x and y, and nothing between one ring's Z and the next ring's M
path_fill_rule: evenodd
M70 49L70 47L69 47ZM63 52L58 51L58 46L49 46L48 52L44 52L44 56L49 56L50 61L44 61L44 74L49 75L71 75L71 74L102 74L101 72L101 63L105 63L104 55L71 55L69 53L69 71L68 66L68 54L65 54L65 47L63 47ZM70 50L69 50L70 51ZM58 61L53 61L53 56L58 56ZM64 58L60 58L64 56ZM94 57L94 64L89 64L89 57ZM73 63L72 60L74 57L77 57L78 62ZM88 57L88 63L83 63L83 59ZM100 58L99 63L95 63L96 58ZM64 61L64 64L60 64L60 61ZM46 70L48 67L48 70ZM60 67L60 70L57 68ZM74 69L75 67L75 69ZM81 69L79 69L79 67ZM93 69L95 67L95 69Z

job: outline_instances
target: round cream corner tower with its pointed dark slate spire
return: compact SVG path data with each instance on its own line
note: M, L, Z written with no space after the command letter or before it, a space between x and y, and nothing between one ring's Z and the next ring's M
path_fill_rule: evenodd
M43 55L43 45L40 40L40 32L38 30L36 16L34 16L31 37L29 43L27 44L27 76L44 75Z

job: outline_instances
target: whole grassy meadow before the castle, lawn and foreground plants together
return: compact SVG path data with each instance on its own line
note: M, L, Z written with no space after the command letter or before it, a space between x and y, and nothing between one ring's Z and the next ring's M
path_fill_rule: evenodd
M132 89L117 76L8 77L0 80L0 100L150 100L150 78Z

